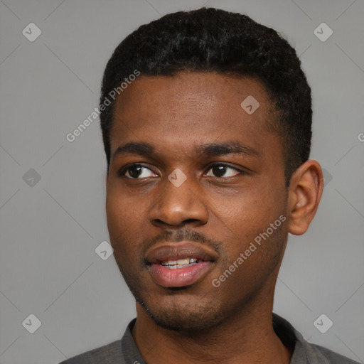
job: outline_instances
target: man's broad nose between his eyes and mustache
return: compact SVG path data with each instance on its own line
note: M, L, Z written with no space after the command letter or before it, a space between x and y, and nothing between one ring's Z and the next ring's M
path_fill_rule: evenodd
M156 191L154 204L149 211L149 219L156 226L205 225L208 222L208 210L198 196L198 186L191 178L181 186L175 186L166 178Z

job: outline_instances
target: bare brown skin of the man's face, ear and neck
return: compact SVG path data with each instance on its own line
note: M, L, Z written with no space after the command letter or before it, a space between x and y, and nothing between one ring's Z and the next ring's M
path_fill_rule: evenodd
M240 107L248 95L260 104L251 115ZM107 225L114 257L137 300L133 336L147 363L289 363L291 348L272 328L274 287L288 232L306 232L323 176L317 161L307 161L287 188L284 144L267 128L274 117L261 82L215 73L140 76L117 99ZM155 151L115 154L132 141ZM194 146L230 141L254 152L194 153ZM125 169L134 163L145 168ZM168 180L175 168L187 176L179 187ZM213 279L280 215L284 223L214 287ZM218 259L191 286L161 287L144 262L146 252L181 237L203 241Z

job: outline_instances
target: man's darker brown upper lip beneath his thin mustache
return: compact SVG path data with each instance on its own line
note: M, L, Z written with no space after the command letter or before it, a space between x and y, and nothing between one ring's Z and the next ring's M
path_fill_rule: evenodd
M146 252L146 263L168 262L183 258L215 262L218 254L205 245L196 242L166 242Z

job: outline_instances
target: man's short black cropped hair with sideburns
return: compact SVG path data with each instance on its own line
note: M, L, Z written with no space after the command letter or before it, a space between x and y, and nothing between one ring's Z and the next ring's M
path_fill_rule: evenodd
M117 46L107 63L100 107L109 92L122 92L120 85L136 70L144 76L196 71L260 80L278 114L273 129L282 137L287 185L291 173L309 159L311 88L301 61L277 31L249 16L201 8L167 14L140 26ZM100 112L108 171L114 100Z

